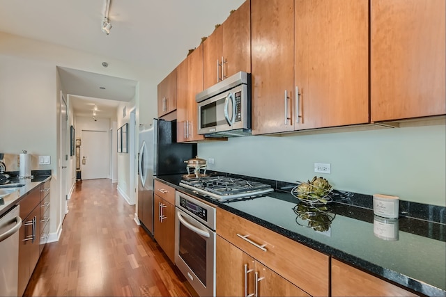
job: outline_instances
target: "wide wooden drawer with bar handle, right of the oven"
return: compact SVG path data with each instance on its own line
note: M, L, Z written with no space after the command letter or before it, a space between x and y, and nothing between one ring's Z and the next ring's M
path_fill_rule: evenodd
M328 296L328 255L223 209L217 209L216 227L217 234L307 293Z

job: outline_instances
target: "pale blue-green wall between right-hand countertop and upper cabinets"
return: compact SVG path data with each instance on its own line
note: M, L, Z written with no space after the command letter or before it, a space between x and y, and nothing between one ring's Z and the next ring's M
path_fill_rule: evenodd
M277 179L312 179L314 163L331 163L321 174L336 189L446 206L445 125L371 131L249 136L199 144L210 170Z

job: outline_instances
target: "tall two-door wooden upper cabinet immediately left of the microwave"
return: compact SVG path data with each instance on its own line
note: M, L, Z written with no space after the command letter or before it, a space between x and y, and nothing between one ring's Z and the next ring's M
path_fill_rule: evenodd
M195 96L203 90L203 44L176 67L178 102L176 107L176 141L201 141L198 134L197 102Z

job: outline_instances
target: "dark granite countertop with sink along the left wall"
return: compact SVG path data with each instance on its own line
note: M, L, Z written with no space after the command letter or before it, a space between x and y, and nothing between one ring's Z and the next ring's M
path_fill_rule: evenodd
M36 170L32 171L33 178L25 178L20 179L17 177L18 172L8 172L10 173L10 184L20 184L17 186L18 190L10 193L9 195L3 196L0 198L0 216L6 214L10 209L12 209L15 205L17 205L20 200L22 200L26 194L28 194L33 188L36 186L40 186L40 184L47 182L47 180L51 179L51 170ZM17 175L15 175L17 173ZM8 186L5 184L4 186Z

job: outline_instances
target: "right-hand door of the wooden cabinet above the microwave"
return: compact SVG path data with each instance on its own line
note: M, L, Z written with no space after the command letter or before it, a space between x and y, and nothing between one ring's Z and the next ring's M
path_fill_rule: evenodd
M251 1L247 0L223 23L223 79L251 72Z

